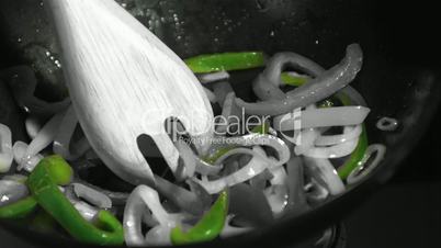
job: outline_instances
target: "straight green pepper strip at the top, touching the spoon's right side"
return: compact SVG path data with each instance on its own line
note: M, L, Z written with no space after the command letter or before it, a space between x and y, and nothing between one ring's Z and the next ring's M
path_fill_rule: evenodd
M210 54L192 57L184 61L195 74L210 74L262 67L264 55L261 52Z

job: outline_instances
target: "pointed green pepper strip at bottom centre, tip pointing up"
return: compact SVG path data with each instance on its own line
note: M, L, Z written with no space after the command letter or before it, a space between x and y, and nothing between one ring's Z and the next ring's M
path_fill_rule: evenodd
M210 211L188 232L180 226L170 232L173 245L210 241L223 230L228 214L228 193L223 191Z

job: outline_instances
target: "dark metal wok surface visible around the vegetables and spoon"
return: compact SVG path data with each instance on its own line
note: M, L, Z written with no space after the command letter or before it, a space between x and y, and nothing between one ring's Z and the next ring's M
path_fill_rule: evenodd
M295 50L328 68L339 61L350 43L360 43L365 54L363 70L353 84L373 110L368 120L370 142L387 145L382 166L360 187L305 216L281 219L274 226L215 241L211 247L282 247L341 219L394 174L427 129L439 102L440 67L431 30L434 22L431 7L422 2L411 5L362 0L124 2L182 57L226 50L264 50L268 54ZM143 4L136 7L136 2ZM0 13L2 42L5 43L1 48L9 55L2 66L33 65L41 79L37 93L48 100L63 98L66 90L60 83L60 71L53 67L59 50L39 1L4 0L0 2ZM250 91L247 86L236 84L235 89ZM1 87L0 93L7 95L8 90ZM13 110L11 102L2 108ZM8 116L20 116L14 113ZM373 128L385 115L397 117L402 127L391 134ZM26 233L13 225L8 228L45 246L71 246L66 240Z

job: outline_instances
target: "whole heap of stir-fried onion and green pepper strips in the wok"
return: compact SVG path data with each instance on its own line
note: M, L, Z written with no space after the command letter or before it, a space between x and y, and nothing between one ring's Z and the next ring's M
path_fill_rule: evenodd
M91 164L89 159L97 159L93 150L86 154L91 148L87 138L74 135L78 116L65 102L36 99L35 78L29 68L19 68L32 80L27 87L13 88L19 103L31 108L26 128L32 140L29 146L16 142L11 147L11 133L0 124L0 172L10 170L14 159L19 171L31 174L13 183L7 177L0 181L0 196L7 199L0 201L0 218L31 216L32 228L47 232L54 232L58 223L77 240L92 245L163 246L208 241L268 225L289 213L304 214L360 182L384 157L384 146L368 144L364 120L370 109L348 86L362 57L359 45L352 44L341 63L328 70L295 53L270 59L262 52L186 59L224 119L240 122L253 114L264 124L240 123L246 129L239 136L227 134L228 126L238 123L228 120L216 126L218 140L207 153L200 154L186 139L172 140L180 158L174 180L156 174L154 185L139 184L132 193L104 190L78 177L74 180L66 160ZM252 82L258 102L247 103L236 98L229 72L253 68L263 68ZM24 92L18 87L24 87ZM298 116L292 114L297 108L302 109ZM43 127L37 123L39 115L48 120ZM284 133L296 131L299 135L294 137ZM50 144L57 156L44 158ZM344 162L335 167L330 159L340 157ZM118 216L123 207L122 225L106 210Z

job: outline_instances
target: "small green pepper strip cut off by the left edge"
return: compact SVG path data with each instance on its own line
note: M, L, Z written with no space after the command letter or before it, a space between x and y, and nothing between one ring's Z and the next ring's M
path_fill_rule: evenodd
M37 207L37 202L33 196L27 196L0 207L0 218L24 218Z

